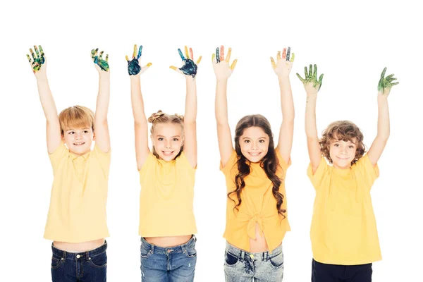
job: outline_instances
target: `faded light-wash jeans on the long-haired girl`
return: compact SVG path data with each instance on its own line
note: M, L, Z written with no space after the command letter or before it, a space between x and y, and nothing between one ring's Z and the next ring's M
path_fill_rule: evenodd
M282 245L270 253L245 252L226 243L223 269L226 282L280 282L283 278Z

